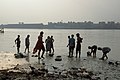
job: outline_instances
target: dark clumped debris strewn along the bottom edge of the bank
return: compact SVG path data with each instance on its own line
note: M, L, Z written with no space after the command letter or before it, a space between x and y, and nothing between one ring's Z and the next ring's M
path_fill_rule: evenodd
M30 79L45 79L45 80L60 80L60 79L100 79L100 77L93 77L93 71L88 71L86 68L69 68L68 70L55 70L48 71L43 67L37 69L33 66L29 66L30 71L27 72L24 69L17 67L18 64L11 69L0 70L0 80L30 80ZM53 68L56 68L53 66ZM57 68L56 68L57 69Z

